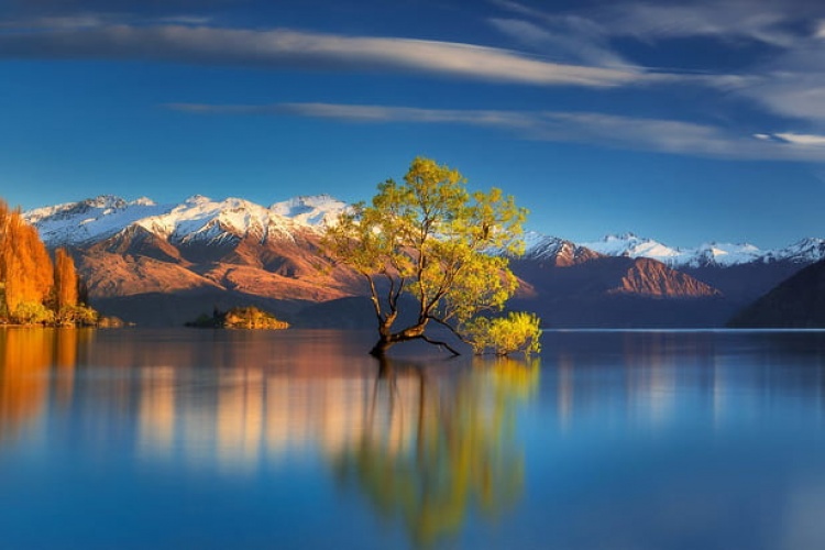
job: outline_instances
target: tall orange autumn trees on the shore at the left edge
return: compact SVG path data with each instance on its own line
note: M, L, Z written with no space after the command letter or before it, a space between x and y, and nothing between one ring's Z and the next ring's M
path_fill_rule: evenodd
M0 199L0 322L95 324L87 290L64 249L54 260L20 208Z

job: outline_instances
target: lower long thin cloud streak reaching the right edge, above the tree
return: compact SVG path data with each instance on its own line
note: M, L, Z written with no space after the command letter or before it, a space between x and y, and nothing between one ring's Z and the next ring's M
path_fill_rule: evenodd
M361 123L463 124L525 140L586 143L614 148L728 160L825 162L825 138L791 132L745 135L694 122L595 112L421 109L340 103L217 106L170 103L169 109L213 114L277 114Z

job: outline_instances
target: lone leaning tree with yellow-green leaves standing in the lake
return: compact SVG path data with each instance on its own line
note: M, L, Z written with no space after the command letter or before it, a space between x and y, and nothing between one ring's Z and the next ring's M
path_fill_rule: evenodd
M378 326L373 355L384 356L410 340L458 355L453 345L432 338L431 326L448 329L476 352L538 351L535 316L495 319L497 330L488 330L491 320L479 317L501 310L518 286L508 257L524 251L527 211L501 189L471 194L465 183L458 170L417 157L404 183L380 184L371 205L354 205L327 229L327 252L369 284ZM397 327L400 309L410 307L410 300L400 300L404 294L414 298L415 320ZM513 323L518 330L508 330ZM505 344L497 341L502 338Z

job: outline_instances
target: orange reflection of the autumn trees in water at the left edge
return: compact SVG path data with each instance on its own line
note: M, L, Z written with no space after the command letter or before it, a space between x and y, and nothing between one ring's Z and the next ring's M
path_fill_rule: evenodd
M78 344L87 329L0 329L0 441L45 411L50 392L67 405L74 388ZM51 387L50 370L58 371Z

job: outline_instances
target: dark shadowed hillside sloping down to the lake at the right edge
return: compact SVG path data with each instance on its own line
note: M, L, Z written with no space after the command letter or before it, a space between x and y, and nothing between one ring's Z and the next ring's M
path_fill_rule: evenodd
M825 261L782 282L730 321L738 328L825 328Z

